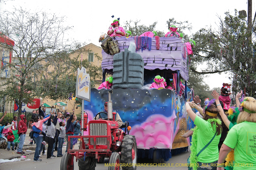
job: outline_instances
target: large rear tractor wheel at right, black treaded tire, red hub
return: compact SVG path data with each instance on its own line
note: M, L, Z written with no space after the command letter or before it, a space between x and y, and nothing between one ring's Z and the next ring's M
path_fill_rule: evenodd
M123 166L123 170L136 170L137 166L137 143L135 136L126 135L121 145L121 163L122 164L133 164L133 166ZM135 152L135 157L132 159L132 150Z

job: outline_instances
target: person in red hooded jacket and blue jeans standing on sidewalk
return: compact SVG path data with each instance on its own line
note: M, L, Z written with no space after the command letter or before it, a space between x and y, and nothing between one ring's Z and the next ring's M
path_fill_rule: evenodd
M17 150L17 153L24 154L25 152L22 151L26 133L27 133L27 120L25 115L20 115L20 122L18 124L18 134L20 136L20 143L19 143L19 149Z

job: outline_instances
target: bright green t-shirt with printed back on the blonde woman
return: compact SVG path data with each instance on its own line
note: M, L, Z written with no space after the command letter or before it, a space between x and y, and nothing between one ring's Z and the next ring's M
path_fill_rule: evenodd
M256 123L242 122L234 125L223 142L234 149L234 170L256 169Z

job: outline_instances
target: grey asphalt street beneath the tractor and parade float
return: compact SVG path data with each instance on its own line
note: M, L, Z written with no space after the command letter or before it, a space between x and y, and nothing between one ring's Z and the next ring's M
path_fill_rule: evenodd
M78 144L75 145L75 149L78 149ZM66 147L62 148L62 153L65 153ZM54 152L54 155L57 156L57 152ZM190 155L189 152L183 152L181 154L172 156L172 158L165 162L164 160L161 161L162 164L159 164L158 166L152 165L150 166L150 163L152 163L152 159L139 159L138 163L143 164L143 166L138 166L137 170L187 170L188 167L185 165L187 163L187 159ZM34 154L27 155L26 159L31 160L23 160L23 161L17 161L17 162L8 162L8 163L2 163L0 164L0 169L3 170L19 170L19 169L36 169L36 170L56 170L60 169L60 161L61 158L55 157L54 159L46 159L46 156L40 157L42 159L41 162L33 162ZM105 158L105 163L97 164L95 170L108 170L108 167L105 166L105 164L108 163L108 159ZM183 165L182 165L183 164ZM74 165L75 170L78 170L78 165L76 162L76 159L74 159ZM148 165L148 166L147 166ZM166 167L167 166L167 167Z

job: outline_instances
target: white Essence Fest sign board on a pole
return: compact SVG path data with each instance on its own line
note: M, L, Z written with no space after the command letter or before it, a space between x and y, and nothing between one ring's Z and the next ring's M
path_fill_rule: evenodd
M76 76L76 97L91 101L91 82L90 75L86 73L86 69L82 67L77 69Z

